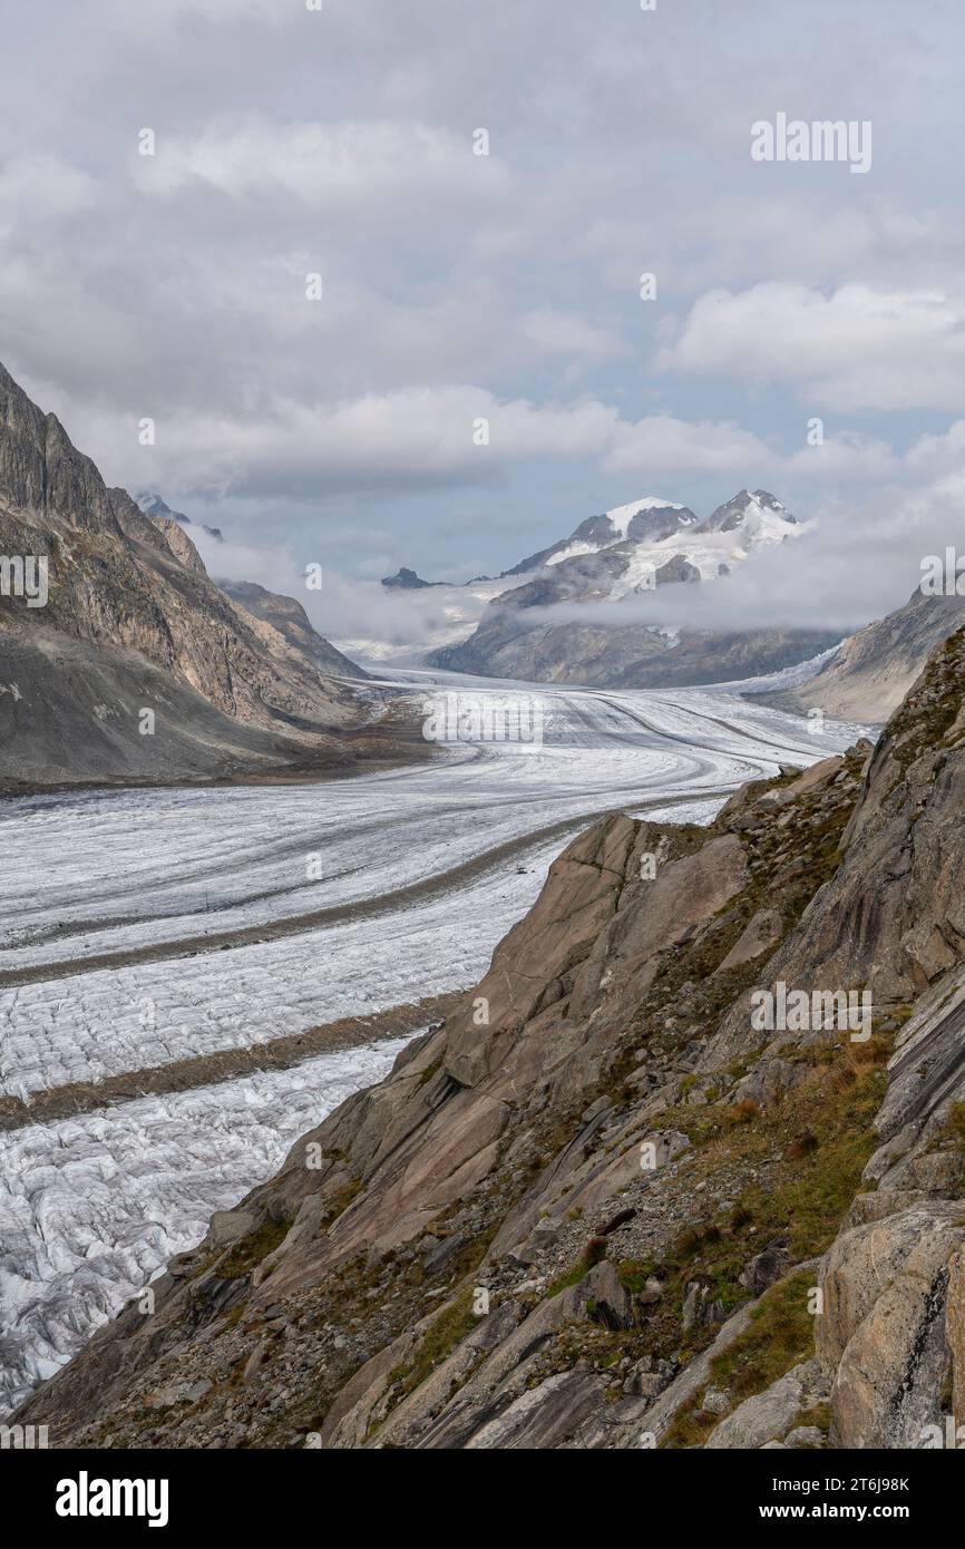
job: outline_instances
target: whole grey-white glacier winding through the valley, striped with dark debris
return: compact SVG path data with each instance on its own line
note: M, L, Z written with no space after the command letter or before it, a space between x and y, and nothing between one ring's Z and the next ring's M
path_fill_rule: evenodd
M457 744L431 765L296 787L0 802L0 1094L29 1100L468 988L598 813L705 823L743 781L864 731L812 734L720 689L406 683L539 696L542 745ZM403 1044L0 1132L0 1410Z

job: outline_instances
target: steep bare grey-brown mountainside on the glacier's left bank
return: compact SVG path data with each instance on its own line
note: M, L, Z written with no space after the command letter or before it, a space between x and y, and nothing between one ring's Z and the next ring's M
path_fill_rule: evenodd
M150 768L150 750L163 776L282 764L296 751L325 762L336 756L331 731L361 719L291 627L282 632L228 598L184 528L108 489L56 417L2 367L0 553L45 556L50 590L42 607L0 598L0 682L12 685L0 696L0 779L122 778ZM167 682L166 694L146 702L158 730L132 740L129 719L152 674L161 675L158 689ZM102 720L118 730L108 744L96 726L84 734L67 691L68 680L94 677ZM195 713L192 694L217 716ZM166 722L175 703L187 726ZM54 730L57 714L64 723Z

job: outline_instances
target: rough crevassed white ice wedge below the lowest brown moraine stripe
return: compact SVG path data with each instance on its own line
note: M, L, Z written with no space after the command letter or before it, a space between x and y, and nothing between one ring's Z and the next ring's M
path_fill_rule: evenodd
M0 1411L194 1247L406 1039L0 1135Z

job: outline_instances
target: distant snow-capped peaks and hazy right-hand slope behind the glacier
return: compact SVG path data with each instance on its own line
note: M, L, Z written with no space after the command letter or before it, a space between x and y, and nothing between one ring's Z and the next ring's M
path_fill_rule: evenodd
M785 709L883 723L922 671L928 654L965 621L965 598L914 592L894 613L841 640L804 629L697 630L688 627L694 584L722 584L762 548L805 539L799 522L767 489L740 489L708 517L661 496L590 516L558 542L500 576L465 586L423 581L403 567L383 586L401 595L435 587L449 638L410 660L485 677L587 683L598 688L674 688L767 677L830 660L801 686L765 697ZM793 550L788 550L792 559ZM516 582L516 584L513 584ZM677 587L678 623L603 624L598 609L657 587ZM567 606L565 617L548 610ZM361 651L378 652L366 641Z

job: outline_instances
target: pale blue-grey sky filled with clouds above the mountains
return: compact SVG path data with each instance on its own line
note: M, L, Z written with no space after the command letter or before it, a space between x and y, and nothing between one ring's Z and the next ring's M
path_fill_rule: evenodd
M965 541L960 0L0 23L0 359L239 553L463 579L764 485L818 522L801 610L857 623ZM869 122L871 169L754 161L778 113Z

